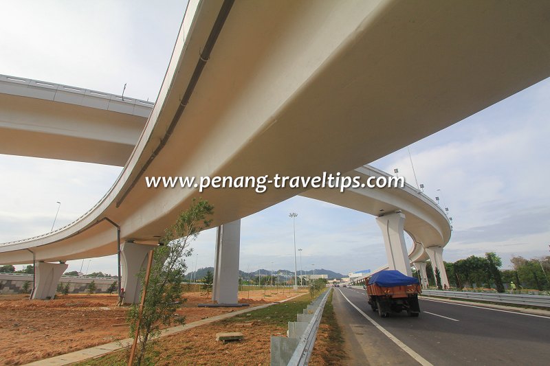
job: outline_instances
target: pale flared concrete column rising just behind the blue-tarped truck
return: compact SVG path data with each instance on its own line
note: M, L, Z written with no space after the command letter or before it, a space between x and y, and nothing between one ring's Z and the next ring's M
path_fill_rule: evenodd
M395 214L377 217L376 222L382 230L382 236L384 236L389 268L397 269L404 275L412 276L403 230L405 215L396 212Z

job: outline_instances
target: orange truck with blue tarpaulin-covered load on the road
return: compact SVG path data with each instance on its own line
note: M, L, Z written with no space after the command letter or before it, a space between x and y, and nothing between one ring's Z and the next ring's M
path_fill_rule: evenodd
M366 282L366 295L373 311L380 317L389 317L391 312L406 310L410 317L418 317L420 306L418 294L420 282L395 270L380 271Z

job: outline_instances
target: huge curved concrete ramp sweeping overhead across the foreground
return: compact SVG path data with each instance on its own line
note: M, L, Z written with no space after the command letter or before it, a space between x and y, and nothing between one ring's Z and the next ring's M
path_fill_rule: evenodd
M27 263L28 249L51 261L115 253L109 220L126 240L157 242L197 196L216 207L214 225L238 220L304 190L199 195L144 176L346 172L550 76L542 1L195 5L118 181L73 224L1 246L0 262Z

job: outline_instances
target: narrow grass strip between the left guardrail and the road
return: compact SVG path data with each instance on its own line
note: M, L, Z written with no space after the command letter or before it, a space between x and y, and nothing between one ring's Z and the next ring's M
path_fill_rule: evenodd
M338 325L334 315L332 295L333 290L331 290L327 304L322 311L314 350L309 361L311 365L340 365L348 358L344 350L342 328Z

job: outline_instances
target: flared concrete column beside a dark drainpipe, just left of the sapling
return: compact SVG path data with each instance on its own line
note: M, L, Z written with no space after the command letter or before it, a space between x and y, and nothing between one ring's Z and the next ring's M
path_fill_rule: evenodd
M148 244L124 242L120 246L120 271L122 280L120 287L124 288L124 303L139 304L142 285L137 273L145 268L148 260L148 252L154 249Z

